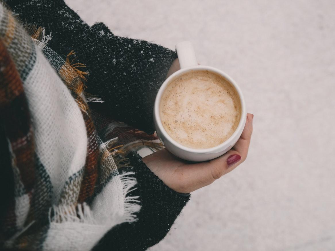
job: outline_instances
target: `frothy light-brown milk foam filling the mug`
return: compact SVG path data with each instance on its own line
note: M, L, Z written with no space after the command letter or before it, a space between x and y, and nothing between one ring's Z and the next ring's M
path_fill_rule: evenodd
M160 119L178 143L196 149L211 148L235 132L241 118L236 89L209 71L179 76L164 90Z

